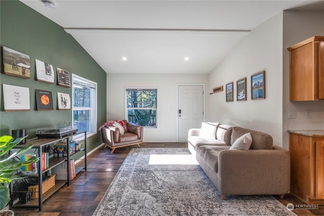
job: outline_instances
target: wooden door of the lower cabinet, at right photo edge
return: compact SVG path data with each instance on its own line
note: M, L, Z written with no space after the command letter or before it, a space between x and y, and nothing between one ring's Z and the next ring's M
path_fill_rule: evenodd
M324 199L324 142L316 142L315 197Z

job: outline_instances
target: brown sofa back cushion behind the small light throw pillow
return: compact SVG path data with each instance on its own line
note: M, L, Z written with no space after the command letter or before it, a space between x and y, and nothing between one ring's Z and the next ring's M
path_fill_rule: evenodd
M233 127L232 135L231 135L231 144L233 144L239 137L245 135L247 133L251 133L252 136L252 144L250 149L272 149L272 137L269 134L253 131L251 129L242 128L242 127Z

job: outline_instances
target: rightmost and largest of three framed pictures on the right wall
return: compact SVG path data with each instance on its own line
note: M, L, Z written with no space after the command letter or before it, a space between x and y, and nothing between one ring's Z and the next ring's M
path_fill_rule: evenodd
M251 100L265 99L265 71L251 75Z

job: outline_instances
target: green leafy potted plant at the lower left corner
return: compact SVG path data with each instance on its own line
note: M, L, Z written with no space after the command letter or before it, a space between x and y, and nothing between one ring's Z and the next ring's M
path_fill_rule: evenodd
M20 148L10 154L10 150L18 145L25 137L14 139L11 136L0 137L0 210L4 209L10 201L9 184L12 180L25 177L14 175L14 172L23 165L37 162L38 157L31 157L26 161L17 161L14 158L32 148L32 144ZM0 211L1 212L1 211ZM2 215L2 214L0 214Z

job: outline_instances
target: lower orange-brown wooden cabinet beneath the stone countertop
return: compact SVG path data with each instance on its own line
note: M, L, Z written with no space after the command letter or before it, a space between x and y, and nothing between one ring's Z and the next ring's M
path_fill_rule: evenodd
M324 132L321 132L324 133ZM290 133L291 193L307 204L324 203L324 134Z

